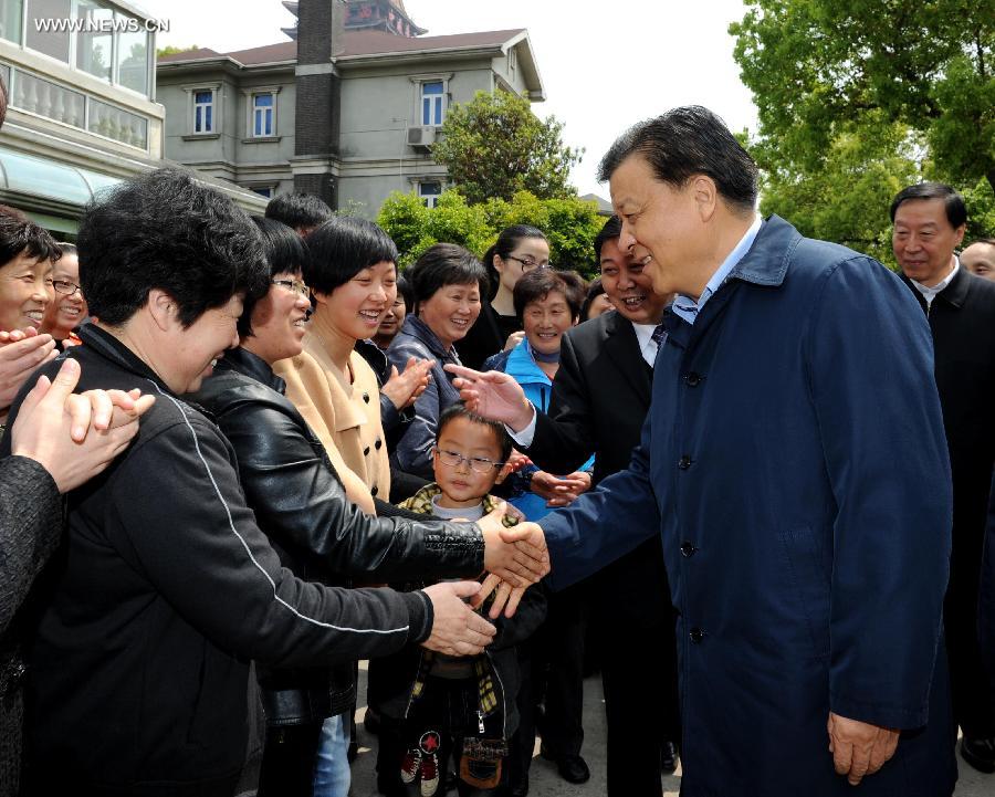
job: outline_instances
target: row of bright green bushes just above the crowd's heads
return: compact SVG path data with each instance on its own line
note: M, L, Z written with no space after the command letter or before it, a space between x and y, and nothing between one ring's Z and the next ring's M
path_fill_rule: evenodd
M396 191L380 208L377 223L397 243L401 265L412 263L426 249L442 241L482 255L505 227L531 224L546 233L553 265L590 276L595 271L591 243L605 220L595 202L577 197L538 199L519 191L512 201L492 198L470 205L461 193L446 191L430 209L413 192Z

